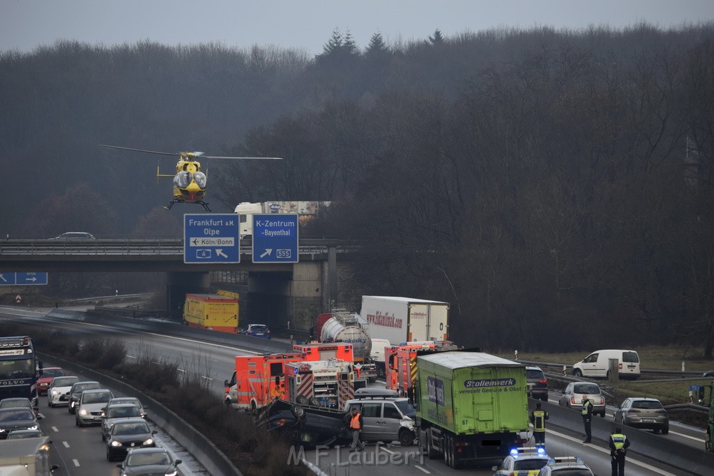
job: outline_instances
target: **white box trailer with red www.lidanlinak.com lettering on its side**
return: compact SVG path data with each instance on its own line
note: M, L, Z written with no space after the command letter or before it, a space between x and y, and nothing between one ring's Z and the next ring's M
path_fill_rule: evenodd
M449 303L393 296L362 296L360 315L369 323L370 338L391 345L423 340L448 340Z

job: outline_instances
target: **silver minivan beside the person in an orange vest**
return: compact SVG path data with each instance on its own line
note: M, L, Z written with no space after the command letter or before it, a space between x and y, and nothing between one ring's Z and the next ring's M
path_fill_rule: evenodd
M402 446L414 444L417 435L416 410L408 398L372 396L368 393L360 395L359 392L355 396L356 399L346 402L345 410L349 415L352 408L357 407L357 411L362 415L362 441L398 441Z

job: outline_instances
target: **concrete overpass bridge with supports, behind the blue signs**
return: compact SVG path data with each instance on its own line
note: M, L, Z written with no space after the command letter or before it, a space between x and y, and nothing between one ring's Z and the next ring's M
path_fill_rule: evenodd
M346 240L303 238L298 263L253 263L251 238L243 238L241 263L186 264L182 238L7 236L0 238L0 273L164 272L166 310L176 316L186 293L210 292L211 272L242 272L248 281L241 293L241 323L286 325L289 320L293 328L308 330L338 300L338 256L350 258L357 248Z

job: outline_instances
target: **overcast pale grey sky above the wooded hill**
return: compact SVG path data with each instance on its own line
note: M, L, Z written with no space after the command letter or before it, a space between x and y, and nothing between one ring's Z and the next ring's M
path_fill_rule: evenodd
M58 39L111 46L218 41L322 51L335 28L358 46L499 26L668 28L714 19L714 0L0 0L0 50L31 51Z

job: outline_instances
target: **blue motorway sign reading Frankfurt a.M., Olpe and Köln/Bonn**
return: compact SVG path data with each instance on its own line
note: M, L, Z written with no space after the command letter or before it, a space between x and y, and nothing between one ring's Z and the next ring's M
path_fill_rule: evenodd
M238 215L187 213L183 216L183 263L240 263Z

